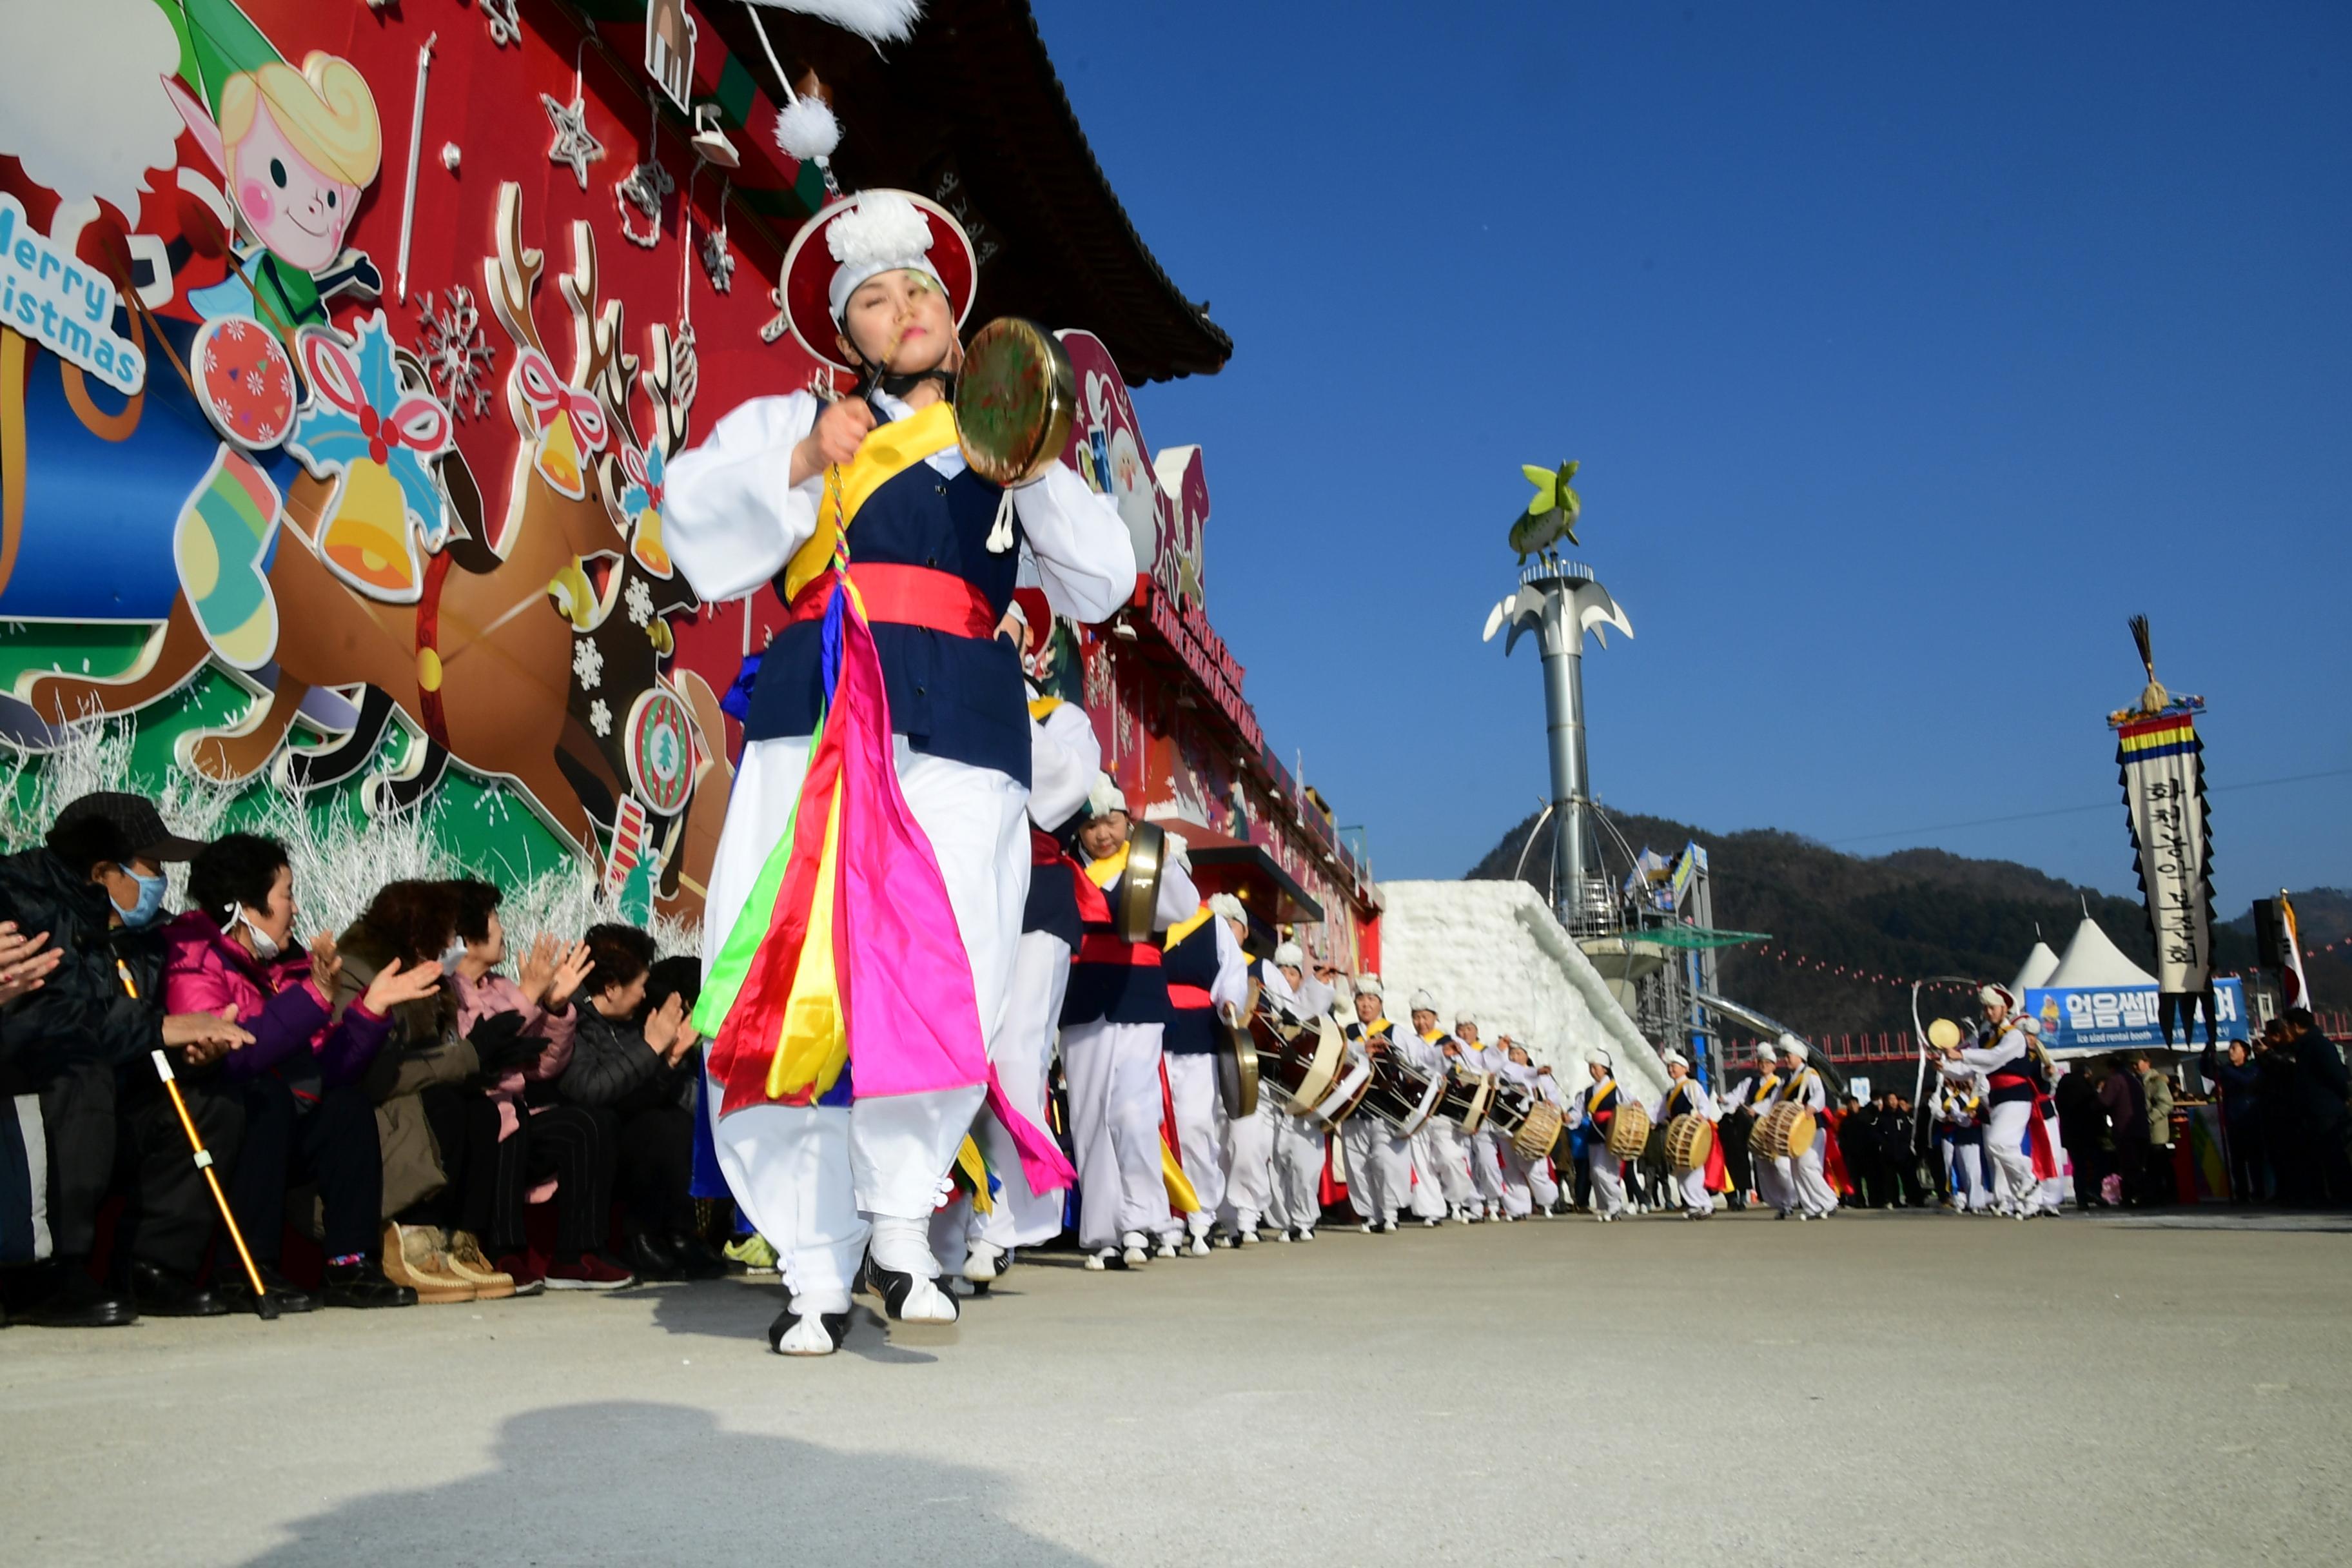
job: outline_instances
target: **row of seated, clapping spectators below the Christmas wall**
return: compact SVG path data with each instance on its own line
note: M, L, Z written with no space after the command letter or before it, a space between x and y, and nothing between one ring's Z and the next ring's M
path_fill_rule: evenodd
M296 900L275 839L181 839L136 795L0 858L7 1321L254 1307L223 1204L280 1312L729 1267L689 1197L694 959L623 924L510 952L489 882L393 882L308 940Z

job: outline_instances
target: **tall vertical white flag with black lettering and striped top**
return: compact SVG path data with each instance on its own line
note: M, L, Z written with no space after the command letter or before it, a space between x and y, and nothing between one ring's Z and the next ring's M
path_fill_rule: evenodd
M2140 858L2140 898L2157 938L2159 1023L2173 1039L2173 1018L2187 1039L2204 1006L2213 1025L2213 865L2204 792L2204 743L2197 738L2199 696L2171 696L2147 651L2147 621L2131 623L2147 665L2138 708L2107 715L2114 764L2124 778L2124 813Z

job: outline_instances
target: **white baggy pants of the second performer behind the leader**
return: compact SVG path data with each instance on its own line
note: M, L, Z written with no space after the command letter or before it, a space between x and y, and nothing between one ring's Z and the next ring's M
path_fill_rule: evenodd
M1077 1244L1089 1253L1127 1232L1169 1227L1160 1173L1160 1025L1065 1023L1061 1070L1077 1147Z

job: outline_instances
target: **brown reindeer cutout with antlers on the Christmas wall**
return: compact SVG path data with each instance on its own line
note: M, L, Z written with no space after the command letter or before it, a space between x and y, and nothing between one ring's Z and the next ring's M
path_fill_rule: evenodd
M557 275L557 292L574 327L572 362L567 374L557 374L532 315L539 277L546 270L543 254L522 242L520 186L501 186L496 256L485 259L482 270L499 322L517 350L508 393L517 425L524 425L503 512L489 515L459 454L442 458L442 489L468 536L452 538L430 557L423 592L414 604L388 604L355 592L320 562L315 541L334 503L336 482L301 475L285 496L285 527L299 538L282 541L268 569L270 592L289 611L278 639L275 686L233 729L183 736L179 745L183 766L216 780L249 778L280 752L296 712L315 689L365 684L367 696L353 736L327 752L289 755L289 783L301 788L348 778L374 755L397 712L428 738L428 745L407 769L407 778L390 783L395 802L430 790L447 762L456 759L473 773L515 783L555 832L576 849L597 849L597 818L609 816L614 797L628 788L626 762L593 738L583 726L586 705L574 698L576 672L593 668L579 651L593 646L581 639L581 630L595 630L602 616L593 611L609 614L614 595L626 588L626 569L614 571L602 590L590 588L588 567L630 559L619 550L621 538L595 468L604 447L602 433L614 425L628 428L626 388L635 360L621 353L619 301L600 308L595 237L588 223L572 226L572 270ZM673 449L684 442L691 355L680 367L666 331L656 329L654 362L647 395L656 407L659 440ZM560 482L564 477L560 465L550 480L541 442L532 437L527 404L539 409L546 400L557 400L579 416L574 433L567 435L569 447L560 454L574 463L574 484ZM597 440L579 440L581 428ZM588 588L586 602L583 588ZM691 595L684 602L691 604ZM583 614L590 618L583 621ZM647 637L647 654L659 661L663 649L656 642ZM207 654L205 632L181 592L172 602L162 635L129 675L89 679L49 672L26 679L16 696L52 724L129 712L193 679ZM649 686L654 668L616 675ZM701 705L689 701L689 708ZM715 701L710 712L715 715ZM724 731L710 733L717 738ZM724 785L722 757L717 771ZM720 813L724 795L724 788L715 790ZM590 809L595 797L602 797L597 804L604 811ZM701 802L694 806L694 818L701 818ZM715 823L703 825L708 835L682 832L682 837L715 839ZM680 830L684 827L691 823L680 823ZM675 884L677 870L673 856L673 877L666 882ZM708 860L694 870L706 875Z

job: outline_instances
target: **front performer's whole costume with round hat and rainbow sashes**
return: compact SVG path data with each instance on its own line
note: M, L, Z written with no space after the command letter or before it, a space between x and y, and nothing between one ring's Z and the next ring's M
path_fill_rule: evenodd
M936 282L962 322L974 282L969 237L936 202L873 190L818 214L786 254L781 294L800 343L840 364L835 334L849 294L887 270ZM880 390L870 402L887 423L847 468L800 484L793 454L821 414L809 393L741 404L668 473L668 548L703 602L774 583L788 607L743 724L706 896L710 980L696 1016L713 1037L720 1166L776 1246L793 1293L771 1342L800 1354L840 1342L868 1244L868 1269L894 1314L955 1316L931 1284L938 1262L924 1227L983 1100L985 1041L1011 990L1030 870L1021 665L995 637L1016 559L993 548L1007 534L1002 522L1014 524L1014 541L1028 541L1047 599L1063 614L1110 616L1136 576L1117 510L1070 468L1014 489L1007 520L1007 491L964 465L953 409L913 409ZM830 745L844 733L880 722L884 691L887 731L873 733L894 778L851 776L849 764L837 776L847 783L811 773L811 764L833 764ZM851 698L856 712L844 710ZM814 743L821 717L828 748ZM830 795L837 846L835 818L821 811L788 842L804 778L811 790L844 790ZM866 835L884 835L891 856L868 856ZM844 976L887 964L915 971L908 994L946 997L920 1030L861 1027L894 1001L870 985L851 992L844 983L837 997L821 997L833 1013L816 1025L793 1011L809 999L802 971L811 966L783 966L776 954L797 957L800 943L816 954L816 936L790 926L783 898L809 898L795 879L811 875L802 846L816 842L823 870L814 875L840 875L842 896L840 905L816 896L807 907L861 917L823 933L837 943L826 957ZM920 879L906 889L906 907L931 910L943 898L953 910L953 922L915 931L920 952L894 947L894 889L875 886L877 875L896 875L880 872L884 865L913 867ZM774 924L762 907L769 898ZM814 1034L795 1034L804 1027Z

